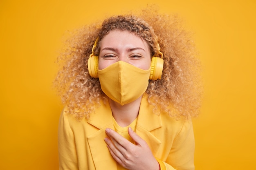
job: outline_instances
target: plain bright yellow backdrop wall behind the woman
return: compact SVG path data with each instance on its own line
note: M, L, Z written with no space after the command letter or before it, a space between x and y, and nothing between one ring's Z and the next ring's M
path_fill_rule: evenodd
M153 3L195 32L205 87L196 170L255 168L255 0L1 0L1 170L58 169L62 105L52 81L66 31Z

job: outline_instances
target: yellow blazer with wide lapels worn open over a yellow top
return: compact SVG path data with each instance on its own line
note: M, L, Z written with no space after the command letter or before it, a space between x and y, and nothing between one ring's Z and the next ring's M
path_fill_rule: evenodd
M194 135L191 120L175 120L166 113L156 115L143 97L136 133L144 139L166 170L194 170ZM61 114L58 128L59 170L117 170L104 138L114 129L109 104L101 104L90 119L77 121ZM159 160L158 160L159 161ZM163 167L161 169L164 169Z

